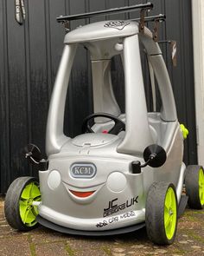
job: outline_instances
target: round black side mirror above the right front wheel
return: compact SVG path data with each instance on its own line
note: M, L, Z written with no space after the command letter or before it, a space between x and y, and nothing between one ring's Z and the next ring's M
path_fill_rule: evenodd
M150 167L162 167L167 159L166 151L163 147L153 144L143 151L143 159Z

